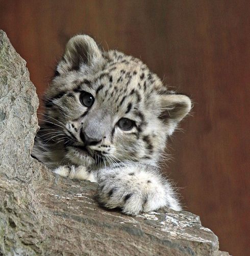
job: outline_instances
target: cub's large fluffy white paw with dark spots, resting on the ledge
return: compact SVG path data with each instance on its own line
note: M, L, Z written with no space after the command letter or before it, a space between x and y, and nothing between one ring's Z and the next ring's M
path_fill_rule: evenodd
M169 182L153 166L145 165L103 169L98 175L98 200L130 215L164 206L181 210Z

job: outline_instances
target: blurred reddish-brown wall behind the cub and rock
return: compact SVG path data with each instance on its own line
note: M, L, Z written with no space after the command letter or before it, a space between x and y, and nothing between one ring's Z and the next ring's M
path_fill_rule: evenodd
M190 95L192 116L171 139L164 172L221 250L249 255L249 7L232 0L0 0L0 29L27 60L39 97L77 33L141 58L167 86Z

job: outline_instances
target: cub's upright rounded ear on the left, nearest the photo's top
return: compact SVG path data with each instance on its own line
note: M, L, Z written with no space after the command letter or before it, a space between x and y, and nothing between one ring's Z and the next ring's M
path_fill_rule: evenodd
M65 53L58 63L55 76L94 66L101 58L102 52L92 37L88 35L73 36L67 42Z

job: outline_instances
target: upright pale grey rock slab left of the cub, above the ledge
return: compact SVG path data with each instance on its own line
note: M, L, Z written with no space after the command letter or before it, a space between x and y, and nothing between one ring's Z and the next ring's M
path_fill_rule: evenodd
M0 31L0 174L33 178L31 148L38 129L38 97L24 61ZM36 175L36 174L35 174Z

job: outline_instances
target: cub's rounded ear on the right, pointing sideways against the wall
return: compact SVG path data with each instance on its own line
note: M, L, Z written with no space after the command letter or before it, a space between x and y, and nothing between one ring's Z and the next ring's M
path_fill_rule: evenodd
M172 119L179 123L191 110L192 103L188 96L183 94L160 95L162 119Z

